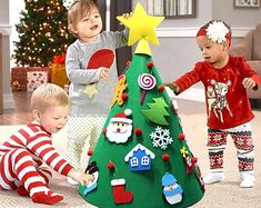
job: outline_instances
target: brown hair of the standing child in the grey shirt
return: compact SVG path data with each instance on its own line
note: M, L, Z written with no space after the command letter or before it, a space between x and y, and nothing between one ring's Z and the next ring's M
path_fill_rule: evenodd
M94 0L76 0L68 10L68 24L76 27L77 22L90 12L91 8L98 9ZM78 38L78 34L71 31L70 28L68 30L73 37Z

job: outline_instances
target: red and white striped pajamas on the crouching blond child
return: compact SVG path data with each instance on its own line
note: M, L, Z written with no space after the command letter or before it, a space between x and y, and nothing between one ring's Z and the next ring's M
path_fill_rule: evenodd
M10 190L22 185L30 196L48 192L51 170L41 167L42 161L64 176L72 169L53 148L51 133L31 122L0 146L0 188Z

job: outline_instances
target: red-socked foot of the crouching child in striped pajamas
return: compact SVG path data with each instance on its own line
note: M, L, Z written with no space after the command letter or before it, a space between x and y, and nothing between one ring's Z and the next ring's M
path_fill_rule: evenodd
M31 196L33 202L44 204L44 205L53 205L63 199L61 195L54 194L49 190L48 194L44 191L36 192Z

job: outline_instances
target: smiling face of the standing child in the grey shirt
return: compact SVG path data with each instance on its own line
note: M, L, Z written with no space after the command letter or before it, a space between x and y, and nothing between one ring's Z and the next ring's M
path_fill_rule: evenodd
M102 30L102 20L100 12L96 7L83 17L74 27L74 32L82 42L93 42Z

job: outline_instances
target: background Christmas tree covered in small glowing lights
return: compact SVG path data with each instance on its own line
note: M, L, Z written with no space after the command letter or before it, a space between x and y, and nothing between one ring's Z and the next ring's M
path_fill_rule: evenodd
M67 30L67 9L62 0L26 0L16 26L19 41L13 58L18 66L43 67L66 52L73 37Z

